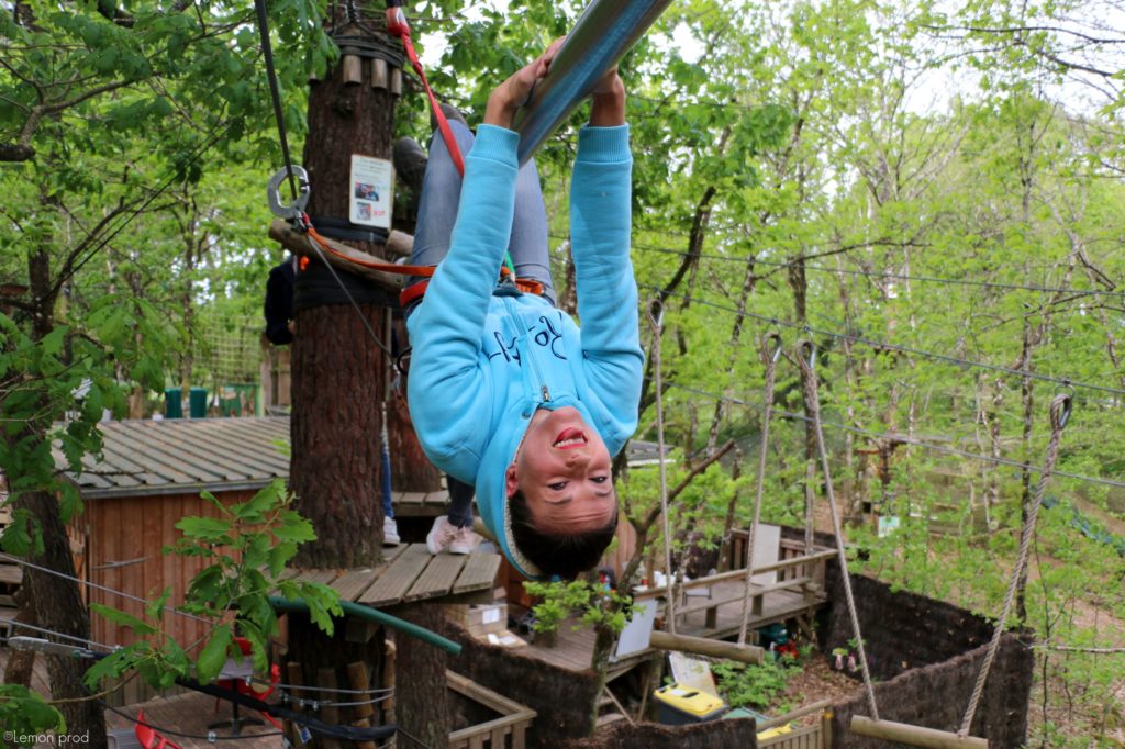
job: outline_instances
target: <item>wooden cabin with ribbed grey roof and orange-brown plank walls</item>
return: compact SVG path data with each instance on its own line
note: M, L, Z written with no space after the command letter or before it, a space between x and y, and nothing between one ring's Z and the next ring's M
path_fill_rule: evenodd
M182 602L192 577L205 566L195 557L164 554L180 539L182 517L216 516L218 508L199 495L212 493L225 505L245 502L276 478L289 475L282 451L289 418L213 418L104 422L100 460L87 458L71 480L84 512L69 529L87 603L115 606L141 615L142 604L93 586L141 598L165 587L169 604ZM56 458L61 467L62 457ZM126 644L130 638L101 616L91 617L98 642ZM164 626L180 642L195 642L207 631L202 622L165 615Z

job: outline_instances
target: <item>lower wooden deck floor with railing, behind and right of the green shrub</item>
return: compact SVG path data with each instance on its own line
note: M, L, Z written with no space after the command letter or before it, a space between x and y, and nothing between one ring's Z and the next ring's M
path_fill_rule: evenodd
M740 588L745 590L744 585L741 580L720 583L714 586L712 595L717 599L735 597L735 594L738 594ZM664 599L660 598L659 601L658 617L664 615ZM693 604L701 601L701 598L691 598ZM822 594L810 606L800 593L774 590L766 594L763 601L762 614L759 616L752 615L747 628L754 631L767 624L793 619L799 614L812 613L824 604L825 597ZM700 611L687 614L683 620L680 620L676 632L688 637L713 639L737 635L741 626L741 615L742 603L741 599L738 599L718 607L718 616L716 617L717 626L708 628L705 624L705 612ZM572 630L572 624L568 622L559 626L558 644L556 647L546 648L532 642L526 648L520 648L519 652L569 671L582 671L590 668L590 662L594 656L594 631L586 626L574 631ZM646 660L652 652L655 651L649 649L632 653L616 661L613 668L614 670L630 668Z

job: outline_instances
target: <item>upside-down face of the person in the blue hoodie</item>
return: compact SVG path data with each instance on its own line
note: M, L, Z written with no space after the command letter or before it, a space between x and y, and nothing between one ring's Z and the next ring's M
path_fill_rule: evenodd
M523 491L543 533L582 533L605 527L618 512L610 451L572 407L540 409L507 469L507 496Z

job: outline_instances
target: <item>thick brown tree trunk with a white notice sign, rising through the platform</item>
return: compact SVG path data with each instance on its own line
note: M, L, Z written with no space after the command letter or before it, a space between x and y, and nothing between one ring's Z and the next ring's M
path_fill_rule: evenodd
M358 27L336 30L370 36ZM362 65L364 80L359 84L344 83L341 67L314 85L308 101L304 163L310 183L308 214L322 228L328 223L324 219L346 225L352 155L390 157L394 97L386 89L371 88L370 64ZM282 187L282 192L287 189ZM381 244L349 243L384 256ZM296 281L289 484L299 512L317 534L295 560L305 568L367 567L382 559L380 428L389 313L377 304L385 295L369 282L343 271L335 276L348 285L349 294L323 267L299 272ZM310 278L324 286L313 288ZM359 297L354 305L349 295ZM394 404L388 404L388 410L395 410ZM357 661L364 664L368 674L380 674L381 631L364 642L350 642L345 629L345 622L338 620L334 635L325 638L306 616L290 615L289 659L300 664L305 684L328 683L333 677L338 685L348 684L343 667ZM317 740L316 746L335 743Z

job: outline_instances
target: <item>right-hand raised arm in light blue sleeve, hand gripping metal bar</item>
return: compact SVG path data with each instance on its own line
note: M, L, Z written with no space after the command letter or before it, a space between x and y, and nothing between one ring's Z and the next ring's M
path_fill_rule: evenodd
M637 427L644 353L637 281L629 260L632 155L624 90L616 74L595 90L591 125L578 134L570 183L570 235L586 380L609 414L611 451Z

